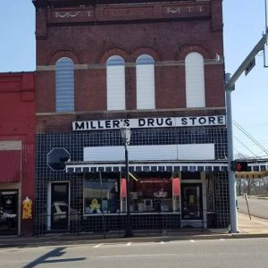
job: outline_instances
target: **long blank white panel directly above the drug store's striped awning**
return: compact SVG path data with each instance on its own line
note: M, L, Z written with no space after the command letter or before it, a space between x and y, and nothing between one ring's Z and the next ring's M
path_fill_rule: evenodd
M214 144L130 146L130 161L214 160ZM124 147L84 147L84 161L124 161Z

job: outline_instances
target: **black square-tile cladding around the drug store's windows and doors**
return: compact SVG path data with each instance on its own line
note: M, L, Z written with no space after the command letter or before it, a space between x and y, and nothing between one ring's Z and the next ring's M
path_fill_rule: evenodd
M169 130L132 130L131 145L168 145L214 143L215 159L226 155L226 129L195 128ZM35 197L35 230L44 234L49 230L49 185L54 182L69 183L70 207L78 215L70 218L68 231L83 232L95 230L124 230L125 214L83 216L84 213L84 174L53 171L47 166L47 155L53 148L64 148L71 155L71 161L83 160L84 147L105 147L121 145L119 131L92 131L80 133L54 133L37 135L37 167ZM229 226L228 172L210 172L213 177L214 214L208 214L208 228L227 228ZM205 175L206 176L206 175ZM207 195L207 193L204 193ZM137 214L131 215L134 230L174 230L180 229L180 214Z

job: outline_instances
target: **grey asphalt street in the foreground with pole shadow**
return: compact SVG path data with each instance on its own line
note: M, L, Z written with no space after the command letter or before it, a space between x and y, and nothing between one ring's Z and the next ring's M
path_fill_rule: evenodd
M0 249L0 267L267 267L268 239L125 242Z

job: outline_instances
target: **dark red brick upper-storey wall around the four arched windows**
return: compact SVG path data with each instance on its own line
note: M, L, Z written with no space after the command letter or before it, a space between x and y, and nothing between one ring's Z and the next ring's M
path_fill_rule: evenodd
M71 131L77 116L190 115L184 65L189 52L198 52L205 60L205 108L195 109L194 114L225 113L222 0L112 2L35 1L38 133ZM123 114L106 108L105 63L114 54L126 63L127 111ZM155 60L155 110L150 113L136 108L135 62L140 54ZM75 64L75 108L69 115L55 115L54 64L63 56Z

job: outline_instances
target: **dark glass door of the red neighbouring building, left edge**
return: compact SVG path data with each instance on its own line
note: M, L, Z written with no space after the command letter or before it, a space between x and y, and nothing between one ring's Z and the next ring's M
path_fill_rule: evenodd
M0 234L18 234L18 191L0 191Z

